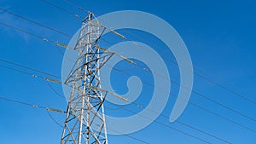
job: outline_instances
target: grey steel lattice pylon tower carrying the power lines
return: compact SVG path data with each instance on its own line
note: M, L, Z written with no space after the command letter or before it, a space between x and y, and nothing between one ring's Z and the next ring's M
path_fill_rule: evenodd
M98 42L106 27L89 13L74 50L78 58L65 84L72 92L67 106L67 117L61 144L108 144L103 102L108 91L101 88L100 68L113 56L102 51Z

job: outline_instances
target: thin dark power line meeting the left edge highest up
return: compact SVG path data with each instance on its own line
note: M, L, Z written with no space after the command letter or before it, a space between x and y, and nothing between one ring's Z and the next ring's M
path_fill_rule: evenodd
M26 18L25 16L22 16L22 15L20 15L20 14L15 14L15 13L13 13L13 12L7 10L7 9L1 9L1 8L0 8L0 10L3 11L3 12L6 12L6 13L8 13L8 14L13 14L13 15L15 15L16 17L19 17L20 19L30 21L30 22L32 22L32 23L38 25L38 26L42 26L42 27L44 27L44 28L47 28L47 29L49 29L49 30L51 30L51 31L53 31L53 32L60 33L61 35L64 35L64 36L67 36L67 37L72 37L72 36L68 35L67 33L64 33L64 32L61 32L61 31L59 31L59 30L56 30L56 29L54 29L54 28L51 28L51 27L49 27L49 26L43 25L43 24L39 23L38 21L28 19L28 18Z

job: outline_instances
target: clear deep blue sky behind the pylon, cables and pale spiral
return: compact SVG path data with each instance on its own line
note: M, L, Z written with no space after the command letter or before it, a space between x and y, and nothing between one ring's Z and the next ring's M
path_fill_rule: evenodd
M62 0L53 0L65 9L69 9L76 14L84 15L85 13L75 9L64 3ZM183 38L191 56L195 72L200 73L207 78L212 79L218 84L235 90L237 93L256 101L256 92L253 82L256 80L256 3L253 1L82 1L78 0L74 3L79 4L84 9L90 9L96 15L107 14L117 10L141 10L151 14L155 14L170 23ZM32 20L39 21L44 25L54 27L61 32L73 35L80 27L81 21L71 14L55 9L39 0L36 1L8 1L3 0L0 3L1 8L9 9L16 14L20 14ZM26 31L36 33L42 37L47 37L61 43L68 43L69 38L58 33L51 32L40 26L33 25L25 20L20 20L13 15L0 13L1 22L17 26ZM150 24L146 24L150 25ZM155 37L147 33L129 30L131 32L154 40L155 44L160 45L162 49L168 49ZM122 31L120 31L122 32ZM107 35L108 36L108 35ZM30 66L44 72L49 72L57 76L61 76L62 57L60 51L51 43L45 43L35 37L28 36L24 33L16 32L8 27L1 26L0 29L0 58ZM130 37L137 40L136 37ZM109 41L118 43L120 39L109 35ZM138 41L138 40L137 40ZM109 47L108 43L105 47ZM149 44L149 43L148 43ZM150 45L150 44L149 44ZM154 48L154 47L153 47ZM173 55L165 53L163 50L155 49L160 55L170 57L174 60ZM64 49L61 49L64 51ZM177 66L166 61L170 77L179 81ZM0 64L10 66L1 62ZM128 67L127 64L119 63L120 69ZM17 67L15 67L17 68ZM148 82L153 83L149 75L145 75L137 68L127 71L137 77L142 77ZM26 101L32 104L44 107L56 107L66 109L67 102L56 95L49 85L41 79L32 78L31 76L13 72L0 67L0 95L9 97L19 101ZM127 88L125 83L127 78L124 75L112 73L113 87L120 93L125 93ZM125 83L124 83L125 82ZM52 86L62 94L61 86L52 84ZM138 103L148 104L148 96L152 93L152 88L143 85L143 92ZM227 107L231 107L238 112L255 118L256 105L252 102L245 101L237 95L220 89L216 84L211 84L205 79L195 76L195 91L203 95L207 95L215 101L219 101ZM172 84L172 92L177 94L177 86ZM166 116L172 112L173 103L176 99L171 98L167 103L166 109L162 112ZM247 126L252 130L256 130L255 121L241 117L241 115L230 112L224 107L202 99L200 96L192 94L193 103L205 107L212 112L230 118L236 123ZM110 115L128 116L132 113L107 104L108 113ZM112 108L112 109L111 109ZM141 111L137 107L127 106L132 111ZM116 110L113 110L116 109ZM11 103L9 101L0 100L0 134L1 143L7 144L54 144L61 139L61 127L56 125L46 111L37 108L26 107L20 104ZM120 114L121 113L121 114ZM53 117L60 124L63 124L65 115L52 113ZM256 142L255 132L243 129L236 124L231 124L222 118L218 118L208 112L202 111L196 107L189 105L179 121L192 125L200 130L217 135L226 141L234 144L253 144ZM209 135L203 135L198 131L190 130L181 124L170 123L168 119L159 117L157 121L170 125L178 130L183 130L191 135L195 135L210 141L213 144L221 144ZM202 141L195 140L188 135L183 135L175 130L171 130L160 124L150 124L147 128L131 134L148 143L178 143L178 144L201 144ZM121 141L121 142L120 142ZM125 135L109 135L110 144L118 143L141 143L135 141Z

